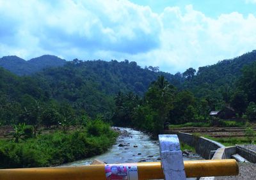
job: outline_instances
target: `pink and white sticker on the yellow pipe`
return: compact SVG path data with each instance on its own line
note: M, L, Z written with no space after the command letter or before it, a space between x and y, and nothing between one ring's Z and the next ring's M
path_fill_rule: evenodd
M105 165L105 173L107 180L138 180L138 169L136 165Z

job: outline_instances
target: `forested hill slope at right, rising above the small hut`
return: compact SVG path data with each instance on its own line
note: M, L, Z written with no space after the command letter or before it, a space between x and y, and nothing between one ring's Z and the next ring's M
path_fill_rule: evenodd
M231 103L244 66L250 66L255 62L256 50L253 50L233 59L200 67L192 78L184 80L181 89L191 91L198 98L205 98L214 104L211 109L220 109L221 105Z

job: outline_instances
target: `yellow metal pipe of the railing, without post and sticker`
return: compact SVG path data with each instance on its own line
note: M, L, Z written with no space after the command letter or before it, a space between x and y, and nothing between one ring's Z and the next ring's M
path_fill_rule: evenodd
M161 162L132 163L138 168L138 177L163 179ZM186 177L236 176L239 169L236 160L184 161ZM24 169L1 169L0 180L100 180L106 179L105 165L77 167L47 167Z

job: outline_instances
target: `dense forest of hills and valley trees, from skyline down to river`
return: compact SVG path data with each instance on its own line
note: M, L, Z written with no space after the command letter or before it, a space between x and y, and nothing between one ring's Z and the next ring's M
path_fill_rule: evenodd
M2 63L8 58L9 70L17 75L0 68L0 123L30 124L34 135L40 125L74 125L95 118L157 135L166 124L212 121L211 110L227 107L241 123L256 117L255 50L175 75L128 60L65 61L42 56L26 65L33 68L31 63L36 62L40 68L18 76L23 73L13 64L24 60L9 56ZM221 123L221 119L212 122Z

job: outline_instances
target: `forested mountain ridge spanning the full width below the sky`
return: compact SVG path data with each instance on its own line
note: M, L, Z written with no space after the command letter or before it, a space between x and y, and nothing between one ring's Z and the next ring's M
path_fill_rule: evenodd
M30 61L24 61L17 56L3 57L1 60L17 62L19 67L26 63L49 64L56 56L42 56ZM134 95L143 96L148 91L150 84L163 75L164 79L177 87L178 91L191 91L196 98L203 98L209 105L209 110L220 109L225 103L231 103L236 89L236 81L241 75L244 65L252 64L256 60L255 51L230 60L220 61L211 66L200 67L196 72L189 68L184 73L164 73L157 67L141 68L136 62L128 60L112 61L65 61L58 59L63 66L34 68L38 71L30 77L17 77L2 70L6 84L1 86L1 91L10 95L29 94L35 100L56 100L60 103L69 103L76 110L84 110L89 116L109 114L113 111L114 97L119 91L132 92ZM53 60L54 62L57 62ZM1 61L0 61L1 62ZM12 65L12 64L11 64ZM39 65L40 66L40 65ZM1 77L2 78L2 77ZM0 79L1 80L1 79ZM2 80L4 80L2 78ZM30 85L33 88L30 88ZM12 94L13 98L20 97ZM132 94L129 94L132 96Z

